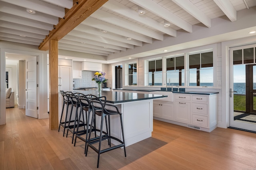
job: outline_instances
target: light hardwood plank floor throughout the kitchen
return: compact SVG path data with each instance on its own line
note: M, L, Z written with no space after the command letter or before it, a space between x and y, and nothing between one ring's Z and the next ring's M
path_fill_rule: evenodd
M132 125L131 125L132 126ZM0 170L97 169L92 149L71 144L71 135L49 130L48 119L25 116L24 109L6 109L0 125ZM154 120L152 137L101 154L99 170L256 170L256 133L217 128L211 133Z

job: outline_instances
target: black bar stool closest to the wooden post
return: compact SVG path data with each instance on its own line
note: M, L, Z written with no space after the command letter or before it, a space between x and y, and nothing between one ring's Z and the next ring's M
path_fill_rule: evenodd
M68 117L68 106L72 104L72 101L69 100L69 95L71 94L71 92L64 92L63 90L60 91L62 97L63 97L63 105L62 105L62 111L61 111L61 116L60 116L60 125L59 125L59 130L60 131L60 126L64 127L64 131L63 131L63 136L65 134L65 129L68 127L66 124L69 122L67 120ZM66 104L66 116L65 116L65 121L62 122L62 117L63 117L63 111L64 111L64 106Z

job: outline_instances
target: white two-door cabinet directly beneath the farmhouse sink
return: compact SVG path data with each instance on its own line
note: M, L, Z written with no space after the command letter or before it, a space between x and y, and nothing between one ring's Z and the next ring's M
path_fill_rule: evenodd
M154 101L153 115L154 117L174 120L174 104L172 102Z

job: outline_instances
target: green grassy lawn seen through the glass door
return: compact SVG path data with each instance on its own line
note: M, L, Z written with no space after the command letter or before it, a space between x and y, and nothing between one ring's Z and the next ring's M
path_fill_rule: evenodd
M256 109L256 96L253 97L253 107ZM246 110L246 99L245 95L234 94L234 110L245 111Z

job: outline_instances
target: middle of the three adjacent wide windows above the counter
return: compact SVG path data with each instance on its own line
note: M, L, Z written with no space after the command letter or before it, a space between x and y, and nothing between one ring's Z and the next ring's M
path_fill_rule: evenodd
M184 86L184 56L166 59L166 85Z

